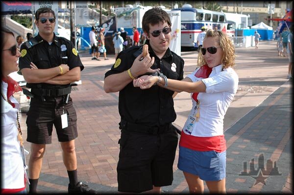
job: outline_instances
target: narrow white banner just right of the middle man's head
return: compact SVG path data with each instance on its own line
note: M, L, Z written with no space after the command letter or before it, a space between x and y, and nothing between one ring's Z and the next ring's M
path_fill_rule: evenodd
M167 11L172 22L172 40L170 42L170 49L181 56L181 11L172 10Z

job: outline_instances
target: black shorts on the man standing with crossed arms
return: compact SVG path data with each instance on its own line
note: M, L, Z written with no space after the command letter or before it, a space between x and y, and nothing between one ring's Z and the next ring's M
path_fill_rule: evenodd
M77 137L76 112L72 98L64 105L65 96L46 98L42 102L40 97L31 98L30 108L26 113L27 138L26 141L35 144L51 144L53 124L59 142L67 142ZM68 127L62 129L61 117L67 113Z

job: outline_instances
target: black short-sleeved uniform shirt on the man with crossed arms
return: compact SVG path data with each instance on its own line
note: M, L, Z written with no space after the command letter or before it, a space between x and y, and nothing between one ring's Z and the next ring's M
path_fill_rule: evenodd
M34 63L39 69L48 69L61 64L67 64L70 70L74 67L84 69L73 43L63 37L57 37L54 34L53 42L49 44L38 34L36 37L25 42L21 46L21 57L19 59L19 68L31 68L30 63ZM27 84L27 87L33 87L37 84ZM58 87L42 83L42 88ZM68 85L66 85L68 86ZM61 86L60 86L61 87Z

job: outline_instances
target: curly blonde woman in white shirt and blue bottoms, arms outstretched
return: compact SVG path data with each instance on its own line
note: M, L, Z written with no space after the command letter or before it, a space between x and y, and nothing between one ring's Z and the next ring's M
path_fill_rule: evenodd
M174 91L190 92L193 106L181 132L178 168L183 171L190 194L226 194L226 142L223 118L238 89L233 70L235 49L222 31L208 30L198 55L198 67L183 81L166 76L143 76L136 87L154 84Z

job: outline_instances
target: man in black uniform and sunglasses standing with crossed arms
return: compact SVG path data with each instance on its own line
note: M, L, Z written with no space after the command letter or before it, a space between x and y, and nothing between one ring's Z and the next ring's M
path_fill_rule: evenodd
M84 69L73 43L53 33L55 13L44 7L36 11L39 34L21 46L19 67L31 88L27 112L27 141L31 142L29 159L29 193L36 193L46 144L51 143L53 125L63 152L69 175L69 193L95 194L77 180L74 139L77 137L76 112L73 108L71 83L80 80Z

